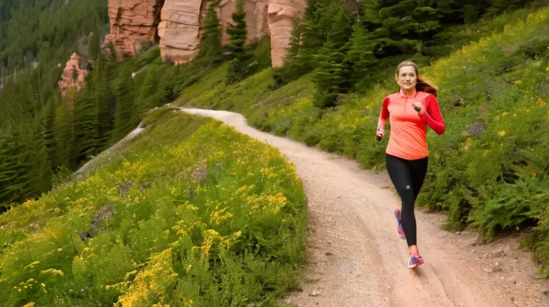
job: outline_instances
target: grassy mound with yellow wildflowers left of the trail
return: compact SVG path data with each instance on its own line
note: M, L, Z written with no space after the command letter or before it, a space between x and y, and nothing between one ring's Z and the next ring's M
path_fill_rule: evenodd
M0 216L3 306L279 306L306 206L279 151L158 110L128 151Z

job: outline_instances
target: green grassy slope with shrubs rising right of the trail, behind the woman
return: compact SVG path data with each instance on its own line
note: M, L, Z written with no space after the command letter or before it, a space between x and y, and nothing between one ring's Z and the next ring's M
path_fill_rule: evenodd
M456 51L421 71L441 90L447 132L428 135L430 169L419 203L447 210L447 228L471 225L488 240L533 229L529 247L548 274L549 8L460 29ZM199 82L177 102L237 110L261 129L384 169L388 138L378 144L374 135L382 99L398 90L394 73L390 67L365 94L345 95L326 110L314 106L309 77L270 90L272 71L235 86L206 77L210 84Z

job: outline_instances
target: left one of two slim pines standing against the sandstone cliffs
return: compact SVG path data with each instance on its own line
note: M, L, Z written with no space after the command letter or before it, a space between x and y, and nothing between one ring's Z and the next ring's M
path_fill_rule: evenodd
M212 0L208 5L206 19L204 21L204 34L202 34L200 51L197 56L198 60L203 59L205 62L219 62L223 59L220 19L218 13L215 12L215 7L217 7L219 3L220 0Z

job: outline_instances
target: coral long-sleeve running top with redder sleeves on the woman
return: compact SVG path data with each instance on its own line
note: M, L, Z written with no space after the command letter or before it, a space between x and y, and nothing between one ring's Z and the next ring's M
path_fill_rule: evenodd
M425 114L419 114L412 103L423 103ZM406 160L417 160L429 156L427 146L427 125L436 134L444 134L445 125L436 98L425 92L406 96L402 90L388 95L383 100L377 131L383 133L385 123L390 119L390 138L386 153Z

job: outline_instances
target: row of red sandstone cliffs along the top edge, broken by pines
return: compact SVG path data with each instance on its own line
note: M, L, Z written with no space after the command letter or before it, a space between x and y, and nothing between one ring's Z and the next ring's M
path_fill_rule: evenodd
M140 44L156 40L157 29L162 58L178 64L188 62L198 54L208 3L208 0L109 0L111 32L106 42L112 41L119 54L127 52L135 56ZM270 35L273 66L281 66L294 28L293 18L305 11L306 3L307 0L245 1L248 42ZM235 0L221 1L218 15L223 30L232 21L234 11ZM226 34L223 40L227 40Z

